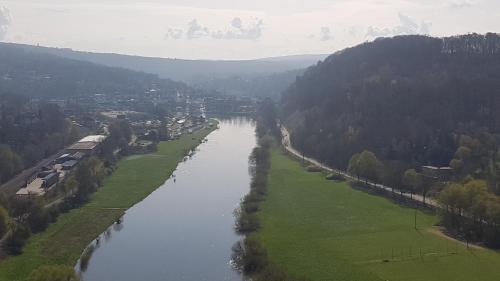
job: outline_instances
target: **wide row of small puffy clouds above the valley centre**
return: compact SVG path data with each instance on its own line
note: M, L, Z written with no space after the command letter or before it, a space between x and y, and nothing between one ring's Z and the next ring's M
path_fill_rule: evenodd
M244 24L241 18L235 17L230 22L230 27L226 30L210 30L208 27L198 23L194 19L188 23L187 29L184 31L179 28L169 28L165 34L166 39L199 39L208 37L212 39L223 40L258 40L262 36L264 21L258 18L253 18L248 24Z

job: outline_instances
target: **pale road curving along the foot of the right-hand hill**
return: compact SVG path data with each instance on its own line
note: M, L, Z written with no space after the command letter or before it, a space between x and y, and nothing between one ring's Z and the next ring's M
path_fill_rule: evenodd
M341 171L341 170L338 170L338 169L334 169L334 168L331 168L329 166L327 166L326 164L323 164L321 162L319 162L318 160L314 159L314 158L310 158L310 157L306 157L304 156L300 151L296 150L295 148L292 147L292 144L290 142L290 134L288 133L287 129L284 127L284 126L281 126L281 133L283 135L283 139L282 139L282 144L283 146L285 147L285 149L295 155L296 157L298 158L302 158L304 161L306 162L309 162L313 165L316 165L318 167L321 167L322 169L328 171L328 172L331 172L331 173L336 173L336 174L340 174L342 175L343 177L345 177L346 179L349 179L349 180L352 180L352 181L356 181L356 182L362 182L362 183L365 183L371 187L374 187L374 188L378 188L378 189L381 189L381 190L384 190L384 191L387 191L387 192L392 192L394 190L394 192L397 192L397 193L401 193L401 191L397 188L391 188L391 187L388 187L388 186L385 186L385 185L382 185L382 184L379 184L379 183L374 183L374 182L371 182L371 181L368 181L368 180L365 180L365 179L362 179L362 178L357 178L355 176L352 176L350 174L348 174L347 172L345 171ZM410 200L413 200L413 201L416 201L416 202L419 202L421 204L424 204L424 205L427 205L427 206L431 206L431 207L434 207L434 208L441 208L441 206L439 205L439 203L434 200L434 199L431 199L431 198L425 198L425 202L424 202L424 197L422 195L418 195L418 194L409 194L409 193L403 193L403 196L410 199Z

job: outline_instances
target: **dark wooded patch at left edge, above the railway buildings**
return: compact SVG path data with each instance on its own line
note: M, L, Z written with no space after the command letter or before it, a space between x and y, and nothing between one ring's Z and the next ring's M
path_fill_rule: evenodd
M0 95L0 183L76 141L80 132L55 104Z

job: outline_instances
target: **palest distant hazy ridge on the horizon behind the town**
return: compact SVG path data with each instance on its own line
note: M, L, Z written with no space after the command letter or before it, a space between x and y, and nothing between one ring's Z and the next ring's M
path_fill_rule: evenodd
M202 90L230 95L274 96L295 80L298 73L326 55L295 55L256 60L184 60L91 53L64 48L17 45L29 52L48 53L110 67L157 74L182 81Z

